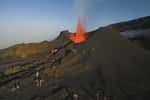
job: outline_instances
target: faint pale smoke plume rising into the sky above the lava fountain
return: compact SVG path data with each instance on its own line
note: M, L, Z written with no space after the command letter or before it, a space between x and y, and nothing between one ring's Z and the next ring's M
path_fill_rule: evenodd
M74 8L77 16L80 16L86 30L90 30L90 23L94 23L94 15L98 12L103 0L75 0Z

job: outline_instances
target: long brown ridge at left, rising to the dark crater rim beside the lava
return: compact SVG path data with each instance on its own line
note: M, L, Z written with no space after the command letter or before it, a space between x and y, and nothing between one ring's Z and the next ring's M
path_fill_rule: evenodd
M43 41L40 43L23 43L11 46L0 50L0 59L17 59L26 58L36 54L47 53L47 51L54 47L59 47L66 41L67 31L62 31L60 35L53 41Z

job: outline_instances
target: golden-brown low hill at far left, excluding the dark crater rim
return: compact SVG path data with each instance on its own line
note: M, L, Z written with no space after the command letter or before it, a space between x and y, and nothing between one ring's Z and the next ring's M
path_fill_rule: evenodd
M0 51L1 59L26 58L34 54L42 53L51 46L51 43L44 41L41 43L18 44Z

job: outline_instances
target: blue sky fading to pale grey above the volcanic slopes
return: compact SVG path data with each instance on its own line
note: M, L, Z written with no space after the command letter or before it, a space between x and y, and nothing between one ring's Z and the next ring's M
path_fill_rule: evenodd
M150 0L0 0L0 49L150 15Z

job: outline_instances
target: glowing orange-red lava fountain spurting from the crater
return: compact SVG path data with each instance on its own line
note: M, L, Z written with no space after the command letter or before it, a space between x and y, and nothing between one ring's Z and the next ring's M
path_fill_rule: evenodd
M88 35L85 33L80 17L78 18L76 33L69 33L68 37L75 44L79 44L87 40Z

